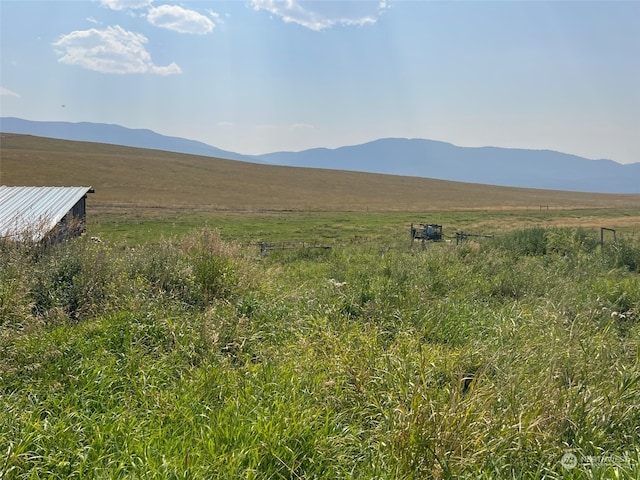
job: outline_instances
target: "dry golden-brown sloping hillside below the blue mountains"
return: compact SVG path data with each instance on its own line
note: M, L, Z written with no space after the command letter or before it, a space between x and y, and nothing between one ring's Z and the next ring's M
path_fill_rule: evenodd
M3 185L93 186L94 207L203 211L640 208L640 195L494 187L277 167L29 135L0 134Z

